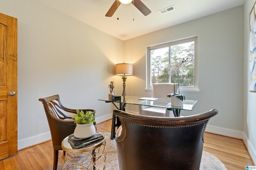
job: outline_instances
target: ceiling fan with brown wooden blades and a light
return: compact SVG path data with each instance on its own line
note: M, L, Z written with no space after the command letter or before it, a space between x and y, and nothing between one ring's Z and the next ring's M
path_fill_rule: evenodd
M151 13L150 9L148 9L148 7L146 7L146 5L143 4L143 2L141 2L140 0L115 0L115 2L112 4L112 6L110 7L110 9L108 10L108 12L105 16L106 17L112 17L121 3L122 4L129 4L131 2L132 2L132 4L134 4L134 6L136 8L138 8L138 10L144 16L147 16L148 14Z

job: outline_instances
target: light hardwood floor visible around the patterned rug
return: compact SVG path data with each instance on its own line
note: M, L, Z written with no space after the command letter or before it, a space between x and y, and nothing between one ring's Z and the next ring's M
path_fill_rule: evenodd
M97 129L110 132L111 120L97 124ZM216 156L228 170L244 170L254 166L241 139L205 133L204 150ZM59 152L58 165L63 164ZM0 170L45 170L53 166L52 142L47 141L18 151L18 154L0 161Z

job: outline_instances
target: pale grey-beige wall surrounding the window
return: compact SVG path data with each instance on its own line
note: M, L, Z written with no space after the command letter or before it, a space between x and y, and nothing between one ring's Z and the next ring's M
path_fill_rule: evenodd
M124 56L134 63L134 76L128 80L131 85L126 94L152 95L144 90L147 46L198 36L199 92L183 92L187 100L198 103L193 111L182 113L189 115L215 108L219 113L208 125L242 132L243 33L243 6L240 6L124 41Z

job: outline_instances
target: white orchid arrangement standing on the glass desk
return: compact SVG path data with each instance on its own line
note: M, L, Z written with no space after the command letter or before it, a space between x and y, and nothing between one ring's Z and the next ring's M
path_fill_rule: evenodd
M170 64L170 65L168 65L168 73L169 74L173 74L173 76L174 76L174 74L177 72L177 76L178 76L178 91L179 91L179 93L177 94L177 93L175 93L175 81L174 81L174 78L173 78L173 83L174 83L174 85L173 85L173 87L174 87L174 93L172 93L172 94L168 94L167 96L170 98L171 96L176 96L178 99L180 99L180 100L185 100L185 96L184 95L182 95L182 94L180 94L180 84L179 84L179 69L180 69L180 67L181 67L181 65L182 65L182 63L185 63L186 61L187 61L188 59L182 59L181 61L176 61L174 64Z

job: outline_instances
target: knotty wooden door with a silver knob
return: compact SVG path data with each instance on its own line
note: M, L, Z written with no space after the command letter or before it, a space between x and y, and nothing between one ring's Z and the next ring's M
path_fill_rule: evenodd
M18 152L17 19L0 13L0 160Z

